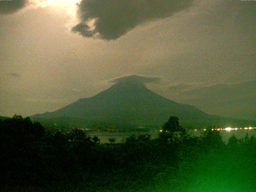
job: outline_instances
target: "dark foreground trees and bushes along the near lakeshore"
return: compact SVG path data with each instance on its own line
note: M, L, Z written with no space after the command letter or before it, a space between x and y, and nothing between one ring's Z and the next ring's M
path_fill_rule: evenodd
M46 131L29 118L0 120L0 191L255 192L256 139L209 129L192 137L170 117L156 139L100 144L79 129Z

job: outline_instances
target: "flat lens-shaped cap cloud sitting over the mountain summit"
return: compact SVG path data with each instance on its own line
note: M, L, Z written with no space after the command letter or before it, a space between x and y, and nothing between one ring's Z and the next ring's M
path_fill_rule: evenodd
M155 83L158 82L161 78L156 76L146 76L140 74L126 74L114 79L108 80L108 82L119 83L119 82L136 82L136 83Z

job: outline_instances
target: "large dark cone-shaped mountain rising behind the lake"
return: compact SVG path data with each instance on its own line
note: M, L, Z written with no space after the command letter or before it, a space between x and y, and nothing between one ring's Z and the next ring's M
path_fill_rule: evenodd
M85 122L109 122L122 126L160 127L171 115L178 116L183 126L243 126L253 122L222 118L202 112L194 106L168 100L139 81L117 82L90 98L82 98L54 112L32 118L80 118Z

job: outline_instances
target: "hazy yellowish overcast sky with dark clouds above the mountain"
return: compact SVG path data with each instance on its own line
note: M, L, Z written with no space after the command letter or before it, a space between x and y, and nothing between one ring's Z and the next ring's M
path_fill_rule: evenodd
M52 112L125 74L160 78L156 92L256 78L256 1L12 0L0 16L1 116Z

